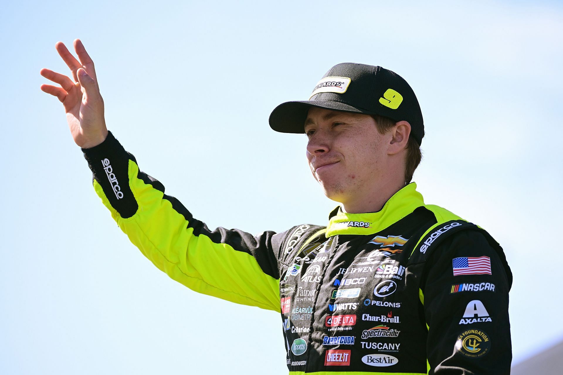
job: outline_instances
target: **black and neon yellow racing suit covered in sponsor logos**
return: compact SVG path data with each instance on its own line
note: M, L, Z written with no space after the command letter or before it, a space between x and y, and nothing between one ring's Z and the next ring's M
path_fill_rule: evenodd
M501 246L410 183L377 213L258 236L207 226L109 133L83 150L97 195L150 261L190 289L282 316L290 374L508 374Z

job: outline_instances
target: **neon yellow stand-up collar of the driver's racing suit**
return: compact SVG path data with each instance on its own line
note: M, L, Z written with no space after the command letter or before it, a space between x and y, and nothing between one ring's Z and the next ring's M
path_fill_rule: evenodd
M337 207L329 216L325 236L374 234L424 205L422 194L417 191L417 184L411 182L389 198L383 208L376 213L347 214Z

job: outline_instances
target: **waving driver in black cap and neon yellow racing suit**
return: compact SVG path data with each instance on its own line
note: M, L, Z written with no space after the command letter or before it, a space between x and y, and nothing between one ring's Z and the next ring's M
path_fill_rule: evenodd
M307 159L341 203L326 226L258 236L194 219L108 132L91 58L57 51L74 82L44 69L97 195L129 239L185 286L280 311L299 373L508 374L510 268L497 242L410 183L424 135L414 92L379 66L338 64L270 126L306 133Z

